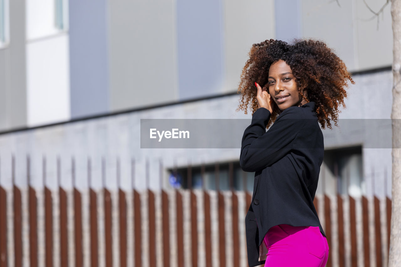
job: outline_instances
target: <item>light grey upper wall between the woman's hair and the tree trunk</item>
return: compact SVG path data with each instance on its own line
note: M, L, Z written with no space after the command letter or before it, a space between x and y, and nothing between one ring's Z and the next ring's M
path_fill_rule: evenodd
M302 36L326 41L350 71L390 66L393 57L390 5L377 21L369 20L374 15L363 0L338 2L340 6L337 1L302 0ZM385 3L366 2L375 11Z

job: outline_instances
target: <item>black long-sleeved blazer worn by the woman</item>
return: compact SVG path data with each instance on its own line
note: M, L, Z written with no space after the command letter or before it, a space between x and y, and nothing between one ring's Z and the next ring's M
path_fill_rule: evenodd
M267 109L257 109L242 138L241 168L255 172L245 217L250 267L265 263L261 244L275 225L317 226L326 236L313 204L324 155L315 103L284 109L266 131L270 116Z

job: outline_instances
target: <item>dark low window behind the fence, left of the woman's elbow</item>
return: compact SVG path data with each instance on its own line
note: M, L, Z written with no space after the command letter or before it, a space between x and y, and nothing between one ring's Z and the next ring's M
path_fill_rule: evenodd
M170 185L176 188L253 191L255 172L244 172L239 162L191 166L169 170ZM191 179L189 179L191 177Z

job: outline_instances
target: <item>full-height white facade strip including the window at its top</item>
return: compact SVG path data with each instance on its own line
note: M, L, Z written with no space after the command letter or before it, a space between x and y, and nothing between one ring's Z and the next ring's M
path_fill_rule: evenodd
M26 0L28 127L71 118L67 7L67 0Z

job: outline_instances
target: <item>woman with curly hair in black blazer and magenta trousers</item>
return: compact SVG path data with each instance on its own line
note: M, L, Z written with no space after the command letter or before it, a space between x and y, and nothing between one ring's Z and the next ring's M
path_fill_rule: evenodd
M324 154L320 126L337 126L347 80L354 84L324 42L253 44L239 84L239 109L246 114L251 104L253 111L240 156L241 168L255 172L245 217L250 267L326 265L328 243L313 204Z

